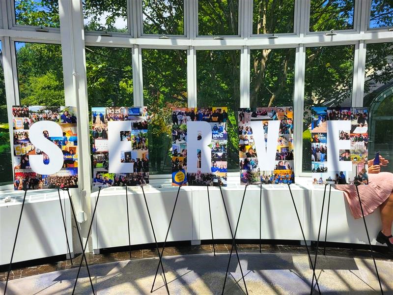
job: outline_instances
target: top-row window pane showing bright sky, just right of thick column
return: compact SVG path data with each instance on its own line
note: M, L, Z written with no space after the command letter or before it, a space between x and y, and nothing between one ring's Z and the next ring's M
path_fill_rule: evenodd
M127 0L83 0L84 29L128 32Z

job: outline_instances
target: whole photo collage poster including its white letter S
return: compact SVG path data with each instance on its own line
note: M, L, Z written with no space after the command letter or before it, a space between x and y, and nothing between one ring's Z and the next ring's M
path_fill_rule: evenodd
M78 187L76 116L75 107L12 107L15 190Z

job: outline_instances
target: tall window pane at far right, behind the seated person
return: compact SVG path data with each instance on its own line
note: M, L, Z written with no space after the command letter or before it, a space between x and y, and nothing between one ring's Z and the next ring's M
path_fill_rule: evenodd
M382 171L393 171L393 43L367 44L365 97L369 107L369 158L376 151L390 161Z

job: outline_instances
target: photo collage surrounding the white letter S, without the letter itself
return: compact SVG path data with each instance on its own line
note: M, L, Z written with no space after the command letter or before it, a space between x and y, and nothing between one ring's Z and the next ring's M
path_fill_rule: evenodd
M32 190L46 188L78 187L78 138L77 110L62 106L13 106L13 164L14 189ZM36 148L30 141L30 127L39 121L56 122L62 130L61 137L50 137L43 131L45 139L50 140L63 154L62 168L51 175L34 172L30 167L31 155L42 155L43 163L49 164L49 156ZM61 155L61 154L60 154Z

